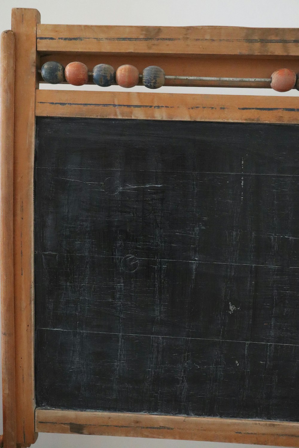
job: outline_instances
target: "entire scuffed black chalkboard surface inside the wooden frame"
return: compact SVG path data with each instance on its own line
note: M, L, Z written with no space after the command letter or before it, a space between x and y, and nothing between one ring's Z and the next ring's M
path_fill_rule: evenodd
M299 421L298 136L37 118L39 407Z

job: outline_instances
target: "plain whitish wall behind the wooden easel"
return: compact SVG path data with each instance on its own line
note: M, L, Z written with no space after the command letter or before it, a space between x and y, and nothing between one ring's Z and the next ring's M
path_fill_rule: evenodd
M144 0L0 0L0 31L10 29L11 9L15 7L39 9L42 23L299 27L299 0L151 0L149 2ZM65 86L61 87L65 88ZM47 88L47 86L41 86L41 88ZM93 86L80 87L81 90L86 88L93 89ZM111 90L118 89L119 87L111 88ZM135 87L134 90L143 90L143 87ZM164 87L160 91L178 92L178 88ZM195 87L182 88L180 91L233 95L277 94L271 89ZM299 92L292 90L280 95L298 96ZM2 409L0 412L2 426ZM1 431L2 427L0 427ZM245 448L250 445L41 433L34 446L36 448Z

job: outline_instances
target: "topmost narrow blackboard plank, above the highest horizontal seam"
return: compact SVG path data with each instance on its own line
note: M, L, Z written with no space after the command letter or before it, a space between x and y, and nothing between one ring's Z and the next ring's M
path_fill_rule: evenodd
M56 117L36 124L36 166L299 175L296 125Z

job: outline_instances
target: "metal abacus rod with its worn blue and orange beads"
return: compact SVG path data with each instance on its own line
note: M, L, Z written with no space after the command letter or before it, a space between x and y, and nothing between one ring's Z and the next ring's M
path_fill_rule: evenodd
M287 92L293 88L299 90L299 74L290 69L279 69L272 73L270 78L222 78L210 76L175 76L165 75L165 72L156 65L151 65L140 74L133 65L121 65L116 71L111 65L95 65L92 72L82 62L71 62L65 68L58 62L46 62L39 72L44 81L51 84L67 81L75 86L82 86L88 82L88 77L92 76L95 84L101 87L108 87L117 84L118 86L130 88L137 86L142 80L143 86L149 89L158 89L164 86L165 79L181 81L211 81L211 82L269 82L273 90Z

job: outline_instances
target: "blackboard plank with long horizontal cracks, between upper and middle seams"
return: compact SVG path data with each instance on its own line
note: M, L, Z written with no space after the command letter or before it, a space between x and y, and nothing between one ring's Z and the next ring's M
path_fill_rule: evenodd
M35 179L42 252L299 267L299 177L36 168Z

